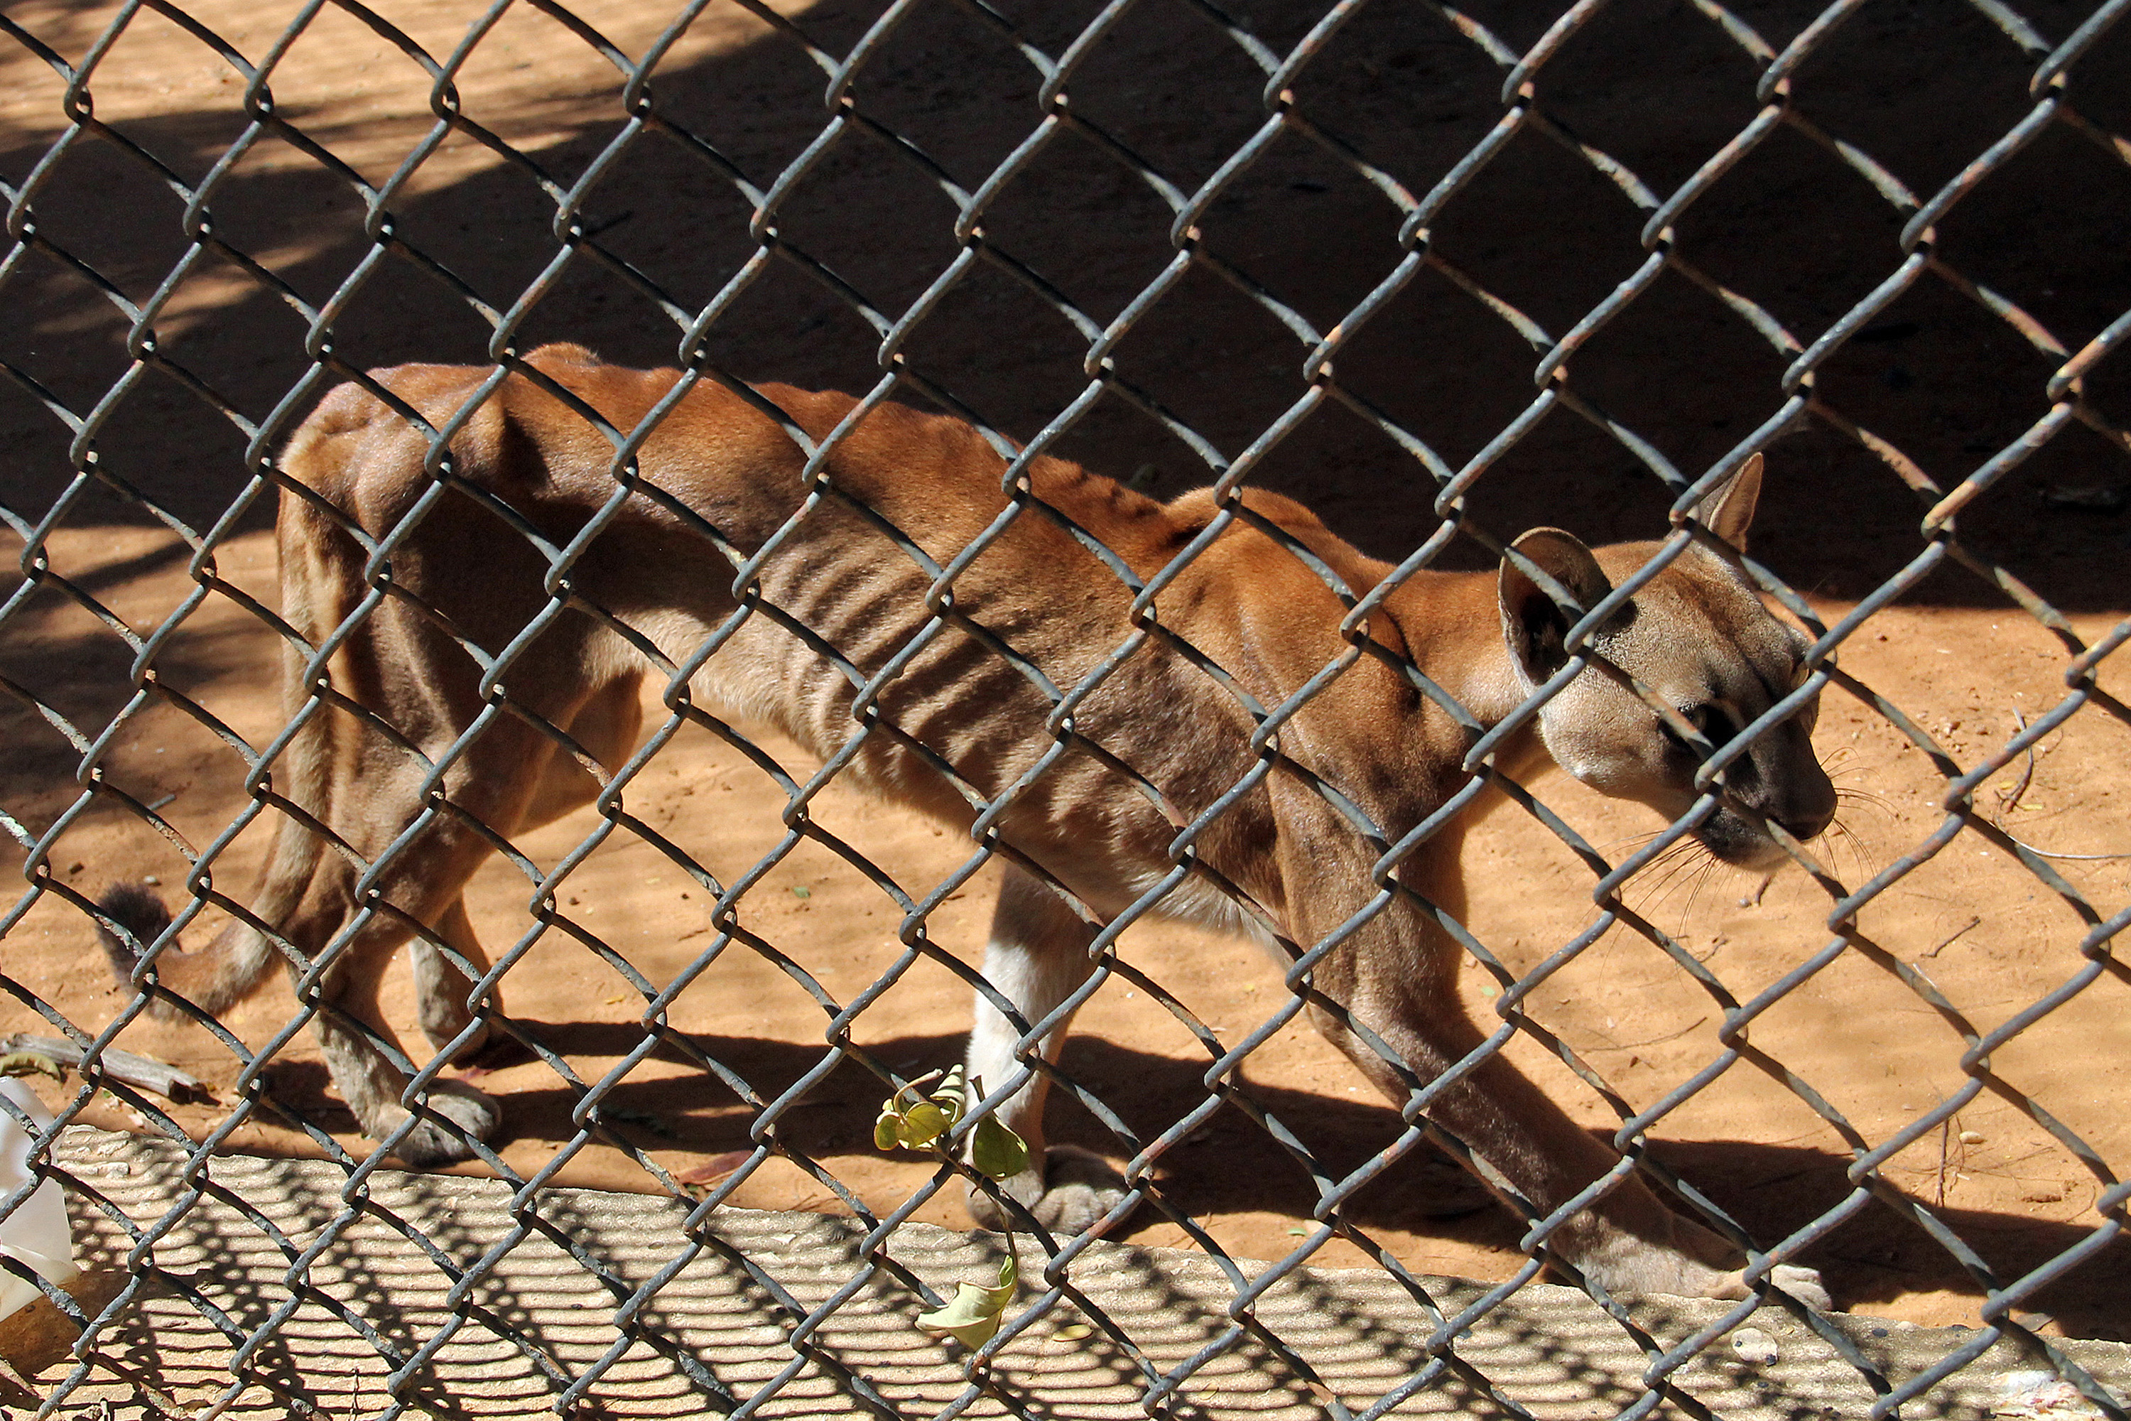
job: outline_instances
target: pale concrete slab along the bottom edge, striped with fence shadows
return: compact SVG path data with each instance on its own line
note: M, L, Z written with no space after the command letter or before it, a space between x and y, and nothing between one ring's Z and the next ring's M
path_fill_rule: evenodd
M569 1393L569 1415L616 1419L1583 1421L1647 1395L1652 1351L1564 1287L1517 1291L1436 1355L1441 1317L1385 1272L1296 1270L1238 1310L1236 1283L1204 1255L1097 1242L1070 1261L1066 1291L1023 1287L1019 1332L976 1368L914 1325L931 1306L914 1283L953 1293L995 1276L995 1236L906 1223L865 1253L852 1219L722 1208L690 1242L676 1199L548 1189L514 1208L499 1182L398 1172L373 1174L345 1216L330 1163L215 1157L188 1187L170 1142L90 1129L68 1129L58 1157L98 1195L70 1195L90 1274L121 1278L134 1248L160 1274L115 1304L79 1361L40 1359L34 1385L60 1417L341 1421L390 1412L394 1395L411 1415L537 1417ZM1417 1287L1449 1314L1485 1291ZM1632 1319L1673 1346L1724 1312L1649 1297ZM1982 1342L1826 1323L1824 1338L1764 1308L1756 1334L1715 1338L1679 1368L1688 1400L1652 1415L1865 1417L1875 1393ZM2131 1393L2131 1346L2054 1346L2118 1406ZM2105 1415L2048 1368L1999 1342L1901 1415Z

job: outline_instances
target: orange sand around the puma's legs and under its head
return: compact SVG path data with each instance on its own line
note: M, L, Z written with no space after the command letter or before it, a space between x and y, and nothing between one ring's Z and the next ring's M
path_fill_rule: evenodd
M109 530L94 539L62 539L55 562L94 582L98 569L124 569L158 545L153 535ZM273 548L247 535L222 554L224 575L271 599ZM170 605L183 586L181 562L100 590L119 616L145 622ZM1839 607L1824 607L1835 616ZM53 614L53 652L81 614ZM1843 665L1920 716L1941 744L1973 754L2012 731L2020 707L2044 707L2056 695L2052 643L2014 618L1975 611L1882 614L1845 654ZM2095 628L2088 628L2095 631ZM188 624L188 637L215 663L188 692L230 726L262 744L275 726L266 686L269 639L247 614L224 599ZM36 639L17 639L11 660L38 656ZM1956 671L1950 669L1958 667ZM2118 684L2122 677L2116 677ZM2035 775L2010 827L2022 837L2067 852L2110 848L2097 824L2114 818L2131 795L2122 756L2101 754L2108 724L2076 718L2044 741ZM2091 726L2091 729L2088 729ZM2120 729L2118 729L2120 733ZM795 769L806 761L767 741ZM1867 878L1918 844L1937 822L1935 773L1924 756L1854 699L1826 699L1818 744L1839 784L1858 790L1843 812L1845 833L1826 844L1831 867L1848 882ZM243 803L234 756L205 729L170 709L151 709L111 761L113 782L153 803L177 795L164 814L194 844L209 842ZM1990 801L2001 788L1986 788ZM1541 784L1590 842L1622 846L1649 829L1634 810L1605 803L1564 775ZM21 810L55 812L64 788ZM769 782L707 733L686 731L631 786L631 814L684 846L714 873L731 880L780 837L780 797ZM21 812L17 810L17 812ZM867 797L831 788L816 818L876 863L906 891L923 895L965 856L965 846L938 827ZM526 835L522 848L552 865L595 824L590 812ZM245 833L224 856L217 884L249 884L260 833ZM1617 850L1615 850L1617 852ZM179 884L183 865L153 831L113 810L85 814L53 859L72 886L94 891L124 871L156 873ZM2125 897L2131 867L2065 863L2065 876L2095 901ZM976 961L989 912L991 873L950 897L931 918L933 940L963 961ZM1507 810L1483 827L1473 846L1473 925L1513 969L1532 967L1590 920L1588 873L1522 812ZM1666 878L1654 869L1628 891L1628 903L1681 946L1737 999L1790 971L1822 944L1826 897L1803 873L1777 876L1764 893L1756 878L1690 869ZM624 954L654 984L667 984L712 942L710 905L701 888L646 842L616 833L558 888L567 916ZM501 861L475 878L473 920L492 952L526 929L528 884ZM797 974L812 974L833 1001L850 1001L897 957L899 914L855 869L806 844L784 859L746 899L742 922L791 957L765 961L746 946L727 948L676 999L671 1025L737 1069L774 1099L827 1050L827 1012ZM2073 916L2022 867L1961 833L1937 856L1871 903L1860 927L1886 959L1929 978L1975 1027L1995 1027L2054 991L2080 967L2071 944ZM1285 991L1253 948L1174 927L1136 929L1125 957L1178 997L1225 1040L1251 1031L1283 1001ZM45 897L9 935L9 976L45 993L75 1023L100 1027L119 1006L104 980L85 920L58 897ZM1466 974L1485 1010L1485 978ZM394 1020L411 1020L405 974L390 989ZM1641 935L1613 929L1581 959L1562 967L1532 995L1532 1014L1583 1055L1634 1108L1718 1059L1718 1003ZM269 1040L288 1020L294 999L281 980L237 1008L228 1023L247 1042ZM505 982L511 1018L563 1052L580 1080L603 1078L641 1040L641 997L624 978L563 931L535 942ZM1997 1080L2041 1101L2065 1127L2120 1159L2131 1148L2131 1020L2125 984L2103 976L2063 1003L1995 1057ZM914 1074L959 1057L970 993L944 967L912 965L859 1016L857 1042L878 1061ZM9 1006L0 1029L36 1029L32 1012ZM420 1040L420 1038L416 1038ZM190 1025L136 1023L121 1044L164 1057L202 1080L228 1084L232 1057ZM1965 1084L1963 1042L1886 961L1850 950L1809 978L1752 1027L1752 1044L1799 1074L1877 1144L1918 1112ZM1607 1108L1590 1089L1532 1048L1515 1055L1539 1069L1590 1125ZM324 1069L309 1035L281 1052L273 1074L277 1095L358 1146L352 1118L326 1093ZM1142 1138L1153 1138L1204 1099L1206 1052L1144 993L1112 980L1076 1023L1068 1069L1110 1101ZM1334 1167L1360 1165L1396 1138L1396 1116L1362 1084L1353 1067L1315 1033L1289 1027L1259 1048L1245 1080L1253 1095L1294 1127ZM550 1163L573 1142L573 1093L554 1072L526 1061L479 1072L479 1084L507 1110L503 1159L520 1174ZM47 1093L60 1099L55 1093ZM931 1170L872 1148L869 1125L880 1087L857 1067L842 1067L782 1121L780 1138L833 1172L876 1210L889 1210ZM228 1097L224 1097L228 1099ZM224 1106L179 1106L170 1114L202 1133ZM128 1112L98 1104L81 1118L126 1125ZM1085 1112L1053 1106L1059 1138L1119 1155ZM622 1138L671 1172L701 1167L707 1157L750 1148L750 1112L720 1084L678 1057L641 1061L609 1095L609 1121ZM1739 1061L1707 1089L1664 1116L1654 1136L1658 1155L1683 1170L1764 1238L1803 1225L1845 1191L1845 1155L1835 1131L1769 1072ZM292 1129L254 1116L230 1148L309 1153ZM575 1148L575 1146L573 1146ZM1984 1091L1948 1125L1897 1155L1886 1178L1933 1206L2007 1276L2044 1261L2095 1225L2099 1185L2014 1101ZM614 1189L656 1187L637 1163L607 1144L584 1144L563 1167L560 1182ZM1313 1191L1294 1165L1245 1114L1223 1110L1159 1165L1161 1193L1223 1248L1240 1257L1279 1257L1294 1248ZM774 1159L735 1195L759 1208L840 1208L831 1189L797 1165ZM950 1195L927 1204L921 1219L961 1223ZM1349 1214L1404 1263L1430 1272L1502 1276L1515 1263L1515 1231L1504 1219L1479 1214L1451 1225L1430 1223L1400 1206L1396 1172L1364 1193ZM1185 1231L1155 1208L1127 1231L1153 1244L1181 1244ZM1973 1321L1975 1291L1948 1255L1914 1225L1880 1206L1867 1208L1816 1251L1837 1295L1862 1310L1884 1310L1931 1323ZM1357 1263L1347 1240L1325 1244L1321 1263ZM2108 1259L2073 1274L2054 1295L2063 1325L2093 1334L2116 1312Z

